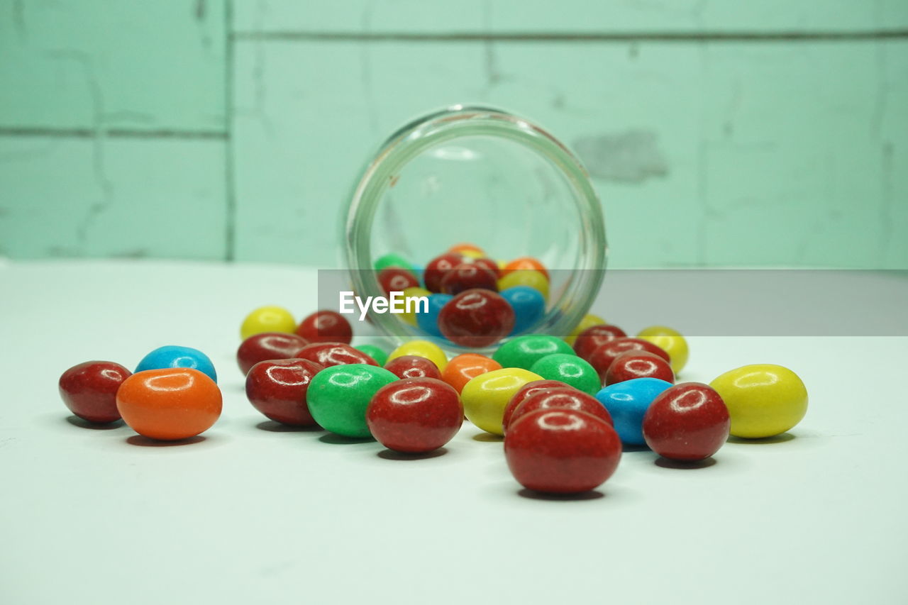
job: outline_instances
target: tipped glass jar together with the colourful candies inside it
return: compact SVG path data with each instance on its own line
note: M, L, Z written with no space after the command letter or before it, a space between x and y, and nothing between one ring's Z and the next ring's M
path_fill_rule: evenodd
M370 322L451 352L567 336L605 269L602 210L577 158L538 125L483 107L450 107L392 134L345 228L357 295L389 298L390 309L403 298L404 312L373 306Z

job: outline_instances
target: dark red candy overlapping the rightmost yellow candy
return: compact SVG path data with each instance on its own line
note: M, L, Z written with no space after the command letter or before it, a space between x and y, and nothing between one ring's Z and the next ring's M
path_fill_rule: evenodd
M728 409L715 390L700 382L666 389L643 417L643 436L653 451L677 461L709 458L728 439Z

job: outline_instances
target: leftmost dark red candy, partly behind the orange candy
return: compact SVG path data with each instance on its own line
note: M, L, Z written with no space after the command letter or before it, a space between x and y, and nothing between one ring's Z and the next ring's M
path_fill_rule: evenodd
M118 421L116 392L131 373L114 362L79 363L60 376L60 397L70 412L85 421Z

